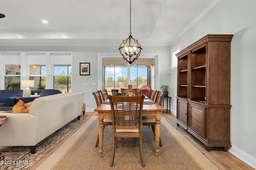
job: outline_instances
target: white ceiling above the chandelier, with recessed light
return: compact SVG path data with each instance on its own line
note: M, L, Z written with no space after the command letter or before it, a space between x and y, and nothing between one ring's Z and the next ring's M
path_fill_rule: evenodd
M216 1L132 0L132 35L170 45ZM2 0L0 13L0 46L120 45L130 32L129 0Z

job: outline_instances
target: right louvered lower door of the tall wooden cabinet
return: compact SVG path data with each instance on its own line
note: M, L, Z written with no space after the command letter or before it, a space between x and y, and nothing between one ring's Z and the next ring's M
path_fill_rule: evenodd
M205 108L190 104L190 128L205 137Z

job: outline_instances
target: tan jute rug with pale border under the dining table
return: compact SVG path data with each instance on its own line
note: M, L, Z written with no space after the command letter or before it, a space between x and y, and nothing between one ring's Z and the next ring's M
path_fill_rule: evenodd
M164 119L164 124L166 120ZM168 123L168 122L167 122ZM164 170L198 170L198 169L216 169L198 150L194 150L191 145L190 151L184 145L184 139L179 141L180 134L171 132L168 124L161 123L162 147L158 158L155 156L154 134L149 126L142 128L142 145L144 160L146 166L142 168L140 164L140 154L138 148L134 147L134 138L124 138L124 147L121 146L121 139L118 139L118 149L114 166L110 167L110 158L112 151L112 126L104 130L103 158L100 158L98 147L95 147L98 135L98 119L95 119L91 125L76 140L74 145L66 152L64 156L55 164L54 170L103 170L103 169L164 169ZM178 135L178 136L177 136ZM182 135L181 135L182 136ZM183 137L184 138L184 137ZM185 139L186 141L186 139ZM187 141L188 142L188 141ZM183 143L183 144L182 144ZM185 147L184 147L184 146ZM196 152L194 155L191 152Z

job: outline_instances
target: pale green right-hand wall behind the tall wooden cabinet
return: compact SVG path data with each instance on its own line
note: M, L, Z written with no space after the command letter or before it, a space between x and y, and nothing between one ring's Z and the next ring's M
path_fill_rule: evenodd
M234 34L231 42L231 143L256 158L256 1L221 0L171 45L182 49L206 34ZM176 89L177 70L170 82ZM173 83L175 82L175 83ZM175 91L175 94L177 92ZM174 98L175 95L172 96ZM176 104L172 109L176 110Z

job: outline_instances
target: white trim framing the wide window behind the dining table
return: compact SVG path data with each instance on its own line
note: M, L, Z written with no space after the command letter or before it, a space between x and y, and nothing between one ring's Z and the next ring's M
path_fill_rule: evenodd
M120 53L98 53L98 89L102 89L102 59L103 58L120 58ZM143 53L138 58L155 59L155 90L160 90L160 74L159 74L159 57L160 53ZM128 63L129 64L129 63ZM127 70L128 71L128 70ZM128 82L129 83L129 82Z

